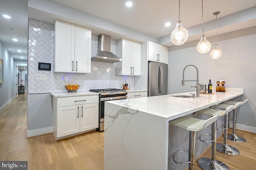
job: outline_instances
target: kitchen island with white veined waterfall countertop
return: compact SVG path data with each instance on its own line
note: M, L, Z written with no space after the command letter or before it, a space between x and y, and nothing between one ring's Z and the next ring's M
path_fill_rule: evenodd
M186 168L187 164L177 166L172 161L172 154L188 149L180 148L188 146L188 132L169 126L169 121L241 96L244 89L226 88L226 92L213 92L215 94L200 94L200 98L179 98L170 94L105 102L104 169ZM199 142L196 141L196 148L201 148L196 150L197 156L210 145L202 147ZM186 161L187 157L184 159Z

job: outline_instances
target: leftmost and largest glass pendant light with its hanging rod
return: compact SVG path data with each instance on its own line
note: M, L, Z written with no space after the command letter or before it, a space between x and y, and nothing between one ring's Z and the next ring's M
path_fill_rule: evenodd
M180 21L180 0L179 0L179 20L177 21L176 27L172 31L171 41L174 45L182 45L188 39L188 31L182 26Z

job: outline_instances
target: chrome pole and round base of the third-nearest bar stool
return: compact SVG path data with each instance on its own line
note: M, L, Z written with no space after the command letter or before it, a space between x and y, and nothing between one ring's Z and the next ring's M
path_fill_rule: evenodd
M216 150L228 155L238 155L240 154L239 150L228 145L228 135L227 135L228 134L228 114L225 115L224 122L225 122L224 142L217 143Z

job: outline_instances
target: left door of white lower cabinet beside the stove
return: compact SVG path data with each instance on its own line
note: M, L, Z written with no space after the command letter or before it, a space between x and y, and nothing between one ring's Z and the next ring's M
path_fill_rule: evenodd
M79 112L78 112L79 111ZM57 137L63 137L80 131L79 106L58 107L57 111Z

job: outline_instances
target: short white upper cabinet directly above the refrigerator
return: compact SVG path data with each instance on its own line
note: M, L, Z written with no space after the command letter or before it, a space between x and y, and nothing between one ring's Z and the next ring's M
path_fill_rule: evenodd
M148 41L148 61L168 64L167 47Z

